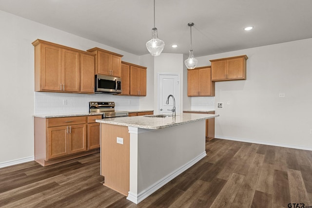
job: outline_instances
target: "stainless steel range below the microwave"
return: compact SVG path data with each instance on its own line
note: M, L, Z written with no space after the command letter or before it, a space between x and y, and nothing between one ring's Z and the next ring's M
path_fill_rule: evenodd
M103 118L128 116L127 111L115 111L115 102L89 102L89 113L103 113Z

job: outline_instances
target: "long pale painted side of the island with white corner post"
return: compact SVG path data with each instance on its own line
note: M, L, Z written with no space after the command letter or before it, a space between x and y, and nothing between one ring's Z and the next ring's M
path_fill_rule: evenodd
M129 127L132 153L127 199L141 202L206 156L205 124L202 120L157 130L136 128L137 133Z

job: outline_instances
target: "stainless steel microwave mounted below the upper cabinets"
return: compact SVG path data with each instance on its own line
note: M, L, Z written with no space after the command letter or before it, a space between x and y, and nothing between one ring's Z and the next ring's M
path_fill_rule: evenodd
M121 93L121 78L106 75L96 75L95 93Z

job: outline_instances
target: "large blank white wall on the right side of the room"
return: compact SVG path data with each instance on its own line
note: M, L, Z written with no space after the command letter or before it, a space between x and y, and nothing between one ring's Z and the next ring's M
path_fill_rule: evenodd
M215 136L312 150L312 38L196 58L245 54L247 80L215 83Z

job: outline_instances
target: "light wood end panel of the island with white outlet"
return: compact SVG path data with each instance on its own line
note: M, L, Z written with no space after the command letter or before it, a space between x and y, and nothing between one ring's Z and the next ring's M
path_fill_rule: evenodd
M123 144L117 143L123 138ZM130 134L127 126L101 123L101 175L104 186L128 196L130 180Z

